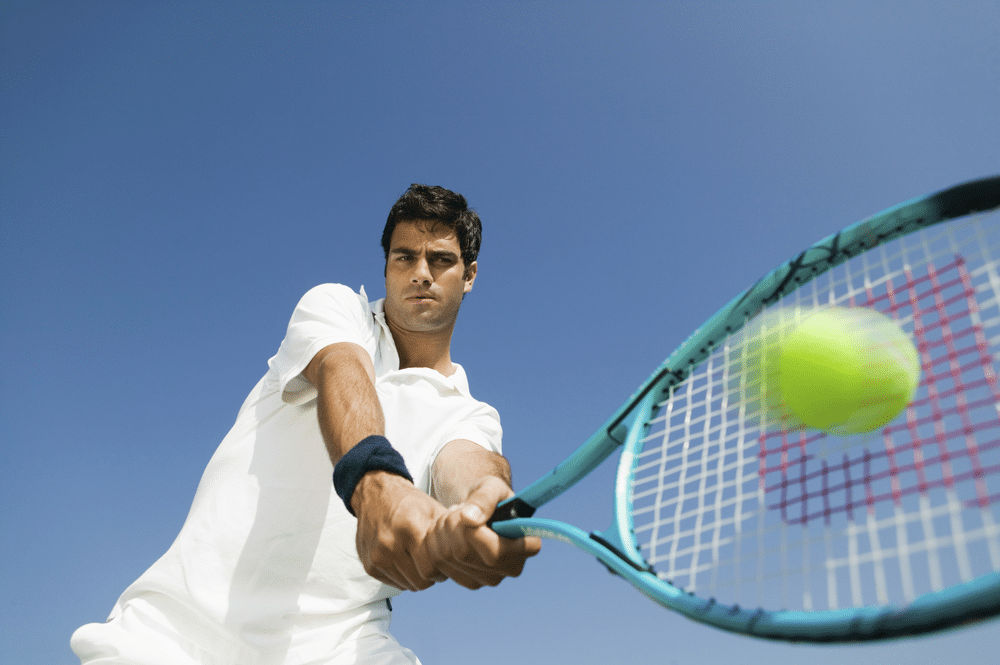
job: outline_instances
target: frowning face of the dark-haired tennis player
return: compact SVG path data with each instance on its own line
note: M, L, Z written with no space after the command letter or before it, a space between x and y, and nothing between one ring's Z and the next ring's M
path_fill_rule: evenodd
M462 262L452 229L433 221L400 222L385 268L386 319L409 332L450 330L475 279L476 263Z

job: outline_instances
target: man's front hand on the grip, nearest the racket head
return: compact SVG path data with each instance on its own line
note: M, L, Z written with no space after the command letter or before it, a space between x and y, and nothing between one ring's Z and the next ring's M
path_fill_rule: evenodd
M464 503L437 518L417 559L469 589L496 586L505 577L520 575L528 557L541 550L541 539L502 538L486 526L497 503L512 495L496 476L483 478Z

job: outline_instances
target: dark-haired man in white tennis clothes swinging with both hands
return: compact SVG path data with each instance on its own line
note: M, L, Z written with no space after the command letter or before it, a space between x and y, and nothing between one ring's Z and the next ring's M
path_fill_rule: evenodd
M480 237L464 197L413 185L383 232L384 301L303 296L176 541L74 633L83 663L419 663L390 596L520 574L541 544L485 525L512 494L499 417L450 354Z

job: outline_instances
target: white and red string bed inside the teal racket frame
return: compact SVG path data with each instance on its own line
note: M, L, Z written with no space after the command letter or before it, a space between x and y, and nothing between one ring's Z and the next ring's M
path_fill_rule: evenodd
M789 429L753 398L746 336L674 388L632 483L636 539L661 577L729 604L817 610L902 604L1000 570L997 218L876 247L770 308L869 307L912 336L921 383L888 427Z

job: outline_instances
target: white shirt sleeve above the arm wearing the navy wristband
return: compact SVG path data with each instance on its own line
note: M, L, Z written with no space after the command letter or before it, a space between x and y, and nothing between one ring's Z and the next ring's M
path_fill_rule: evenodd
M282 400L303 404L316 397L316 389L302 372L324 347L351 342L374 358L375 325L364 289L360 294L342 284L322 284L310 289L292 312L278 353L268 361Z

